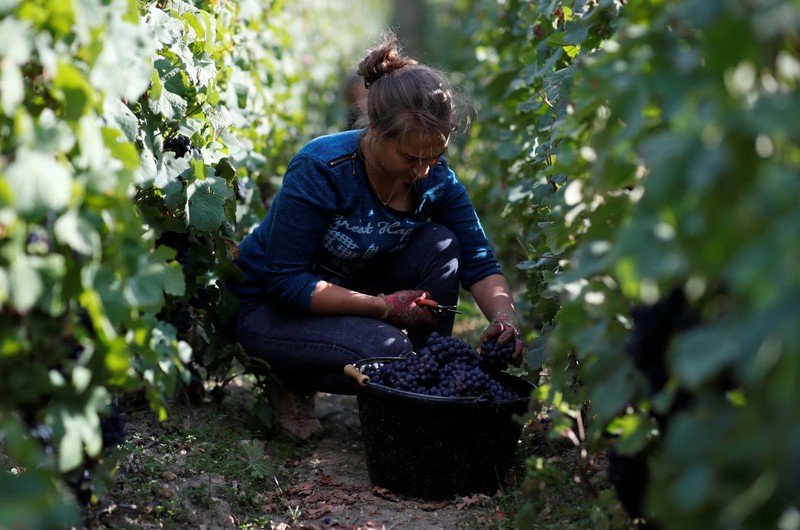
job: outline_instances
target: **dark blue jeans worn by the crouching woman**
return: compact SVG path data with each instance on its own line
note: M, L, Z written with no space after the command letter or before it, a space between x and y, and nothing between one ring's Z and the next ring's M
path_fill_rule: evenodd
M429 223L402 252L379 260L346 287L389 294L422 289L442 305L458 302L461 247L443 225ZM376 318L314 315L289 310L264 298L242 298L234 324L236 340L248 356L266 361L289 390L355 393L343 368L370 357L396 357L421 348L430 332L406 335ZM445 313L434 331L451 335L455 315Z

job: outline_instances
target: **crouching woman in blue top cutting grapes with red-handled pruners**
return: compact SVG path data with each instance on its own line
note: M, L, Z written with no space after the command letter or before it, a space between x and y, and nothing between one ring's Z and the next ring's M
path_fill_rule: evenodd
M269 363L277 423L300 440L321 431L315 392L353 393L346 364L450 335L454 315L429 305L456 304L459 286L490 322L479 343L522 349L508 283L444 157L462 121L447 79L402 56L392 35L358 75L362 128L304 146L239 245L236 337Z

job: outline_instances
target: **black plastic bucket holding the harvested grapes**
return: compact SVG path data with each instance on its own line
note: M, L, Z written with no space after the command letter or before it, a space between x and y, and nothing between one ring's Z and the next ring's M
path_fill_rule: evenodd
M381 360L383 361L383 360ZM356 364L361 371L376 359ZM533 383L499 374L518 399L425 396L367 383L356 391L373 485L407 497L446 500L493 494L514 464Z

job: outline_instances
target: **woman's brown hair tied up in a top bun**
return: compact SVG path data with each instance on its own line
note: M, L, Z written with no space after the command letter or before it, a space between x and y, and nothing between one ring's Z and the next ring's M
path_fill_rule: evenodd
M447 76L403 56L393 33L367 54L357 73L368 90L356 127L370 127L377 138L400 138L409 129L447 138L469 126L461 95Z

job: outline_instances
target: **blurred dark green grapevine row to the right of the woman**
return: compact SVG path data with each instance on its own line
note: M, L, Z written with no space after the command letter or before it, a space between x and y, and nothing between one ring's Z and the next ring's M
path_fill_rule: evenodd
M459 5L480 28L461 37L483 118L470 189L523 251L501 255L527 276L553 436L610 451L621 498L659 527L795 518L797 4Z

